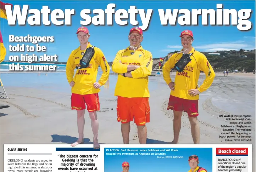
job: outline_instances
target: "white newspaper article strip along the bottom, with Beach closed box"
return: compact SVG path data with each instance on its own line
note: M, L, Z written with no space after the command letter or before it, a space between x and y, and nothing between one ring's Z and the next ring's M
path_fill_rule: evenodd
M97 150L89 145L4 144L4 172L168 172L199 167L207 172L252 172L251 151L248 144L105 144ZM190 157L194 154L197 157Z

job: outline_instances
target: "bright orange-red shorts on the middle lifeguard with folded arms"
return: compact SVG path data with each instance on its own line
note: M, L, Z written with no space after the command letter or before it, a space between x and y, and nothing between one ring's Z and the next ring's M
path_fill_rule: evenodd
M127 98L117 96L117 121L125 124L133 121L138 126L149 122L150 106L148 97Z

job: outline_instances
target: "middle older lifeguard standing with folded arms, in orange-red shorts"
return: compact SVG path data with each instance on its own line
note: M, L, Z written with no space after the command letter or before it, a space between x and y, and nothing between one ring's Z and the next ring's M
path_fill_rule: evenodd
M152 54L140 45L143 41L141 28L132 28L128 36L130 46L119 50L112 64L118 73L115 88L117 96L117 121L121 121L123 143L129 144L130 121L137 124L140 144L146 144L149 122L149 75L152 72ZM132 64L132 65L129 65Z

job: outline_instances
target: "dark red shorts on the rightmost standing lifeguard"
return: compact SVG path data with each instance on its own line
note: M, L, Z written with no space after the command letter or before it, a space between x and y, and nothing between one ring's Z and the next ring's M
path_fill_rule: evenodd
M167 110L184 111L190 117L198 116L198 100L188 100L170 95Z

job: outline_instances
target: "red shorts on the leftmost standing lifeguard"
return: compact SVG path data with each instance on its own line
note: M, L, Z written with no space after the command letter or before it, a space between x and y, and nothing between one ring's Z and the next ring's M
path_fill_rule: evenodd
M71 95L71 109L83 110L87 105L89 112L100 110L100 100L98 93L94 94L74 94Z

